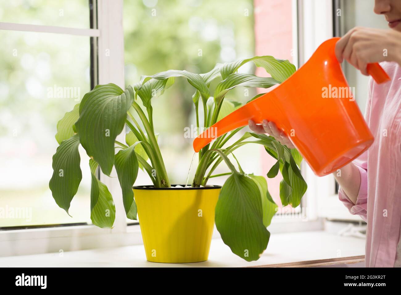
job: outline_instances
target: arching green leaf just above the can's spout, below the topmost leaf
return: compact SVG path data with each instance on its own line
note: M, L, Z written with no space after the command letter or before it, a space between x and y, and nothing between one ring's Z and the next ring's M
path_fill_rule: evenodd
M269 88L278 83L280 82L271 77L258 77L251 74L231 74L217 84L214 94L215 103L220 104L227 92L237 86Z

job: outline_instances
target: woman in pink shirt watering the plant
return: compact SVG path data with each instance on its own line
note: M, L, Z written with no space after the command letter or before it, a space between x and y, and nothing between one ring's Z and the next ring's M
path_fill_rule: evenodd
M375 0L391 30L353 28L336 44L336 57L368 75L368 63L380 62L391 81L369 81L365 120L375 136L367 152L333 173L340 184L338 196L351 214L367 222L367 267L401 267L401 1ZM273 122L249 128L268 133L293 148Z

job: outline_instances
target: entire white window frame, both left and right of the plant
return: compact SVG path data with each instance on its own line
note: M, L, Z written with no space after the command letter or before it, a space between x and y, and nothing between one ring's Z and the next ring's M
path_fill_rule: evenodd
M292 2L294 20L297 20L294 21L293 26L294 30L298 31L298 36L294 34L294 46L298 45L298 55L294 62L299 67L309 59L320 43L332 37L332 0L292 0ZM324 11L327 11L327 14L322 13ZM123 0L101 0L97 1L97 29L0 22L0 30L97 37L98 83L115 83L124 89L122 17ZM124 142L123 133L117 136L117 140ZM322 218L330 218L327 208L334 207L342 208L344 218L348 216L348 219L352 220L352 215L334 195L334 177L332 175L317 177L308 165L305 163L302 165L302 173L308 183L308 190L302 206L308 208L308 222L273 219L269 231L275 233L321 230L323 229ZM114 169L112 175L115 175ZM115 202L117 214L113 229L101 229L94 225L87 225L0 231L0 256L142 244L140 227L127 225L126 216L123 214L125 210L122 193L117 178L101 174L100 179L109 188ZM219 233L215 230L213 238L218 237Z

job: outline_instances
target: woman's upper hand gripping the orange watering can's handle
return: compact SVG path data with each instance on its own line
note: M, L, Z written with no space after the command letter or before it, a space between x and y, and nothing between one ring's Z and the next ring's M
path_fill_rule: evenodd
M352 28L337 43L336 57L345 59L363 75L368 63L396 61L401 65L401 32L375 28Z

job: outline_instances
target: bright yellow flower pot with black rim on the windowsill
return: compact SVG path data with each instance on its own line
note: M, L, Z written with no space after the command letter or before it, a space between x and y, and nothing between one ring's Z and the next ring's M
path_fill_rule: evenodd
M148 261L207 260L221 186L133 190Z

